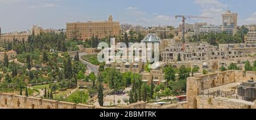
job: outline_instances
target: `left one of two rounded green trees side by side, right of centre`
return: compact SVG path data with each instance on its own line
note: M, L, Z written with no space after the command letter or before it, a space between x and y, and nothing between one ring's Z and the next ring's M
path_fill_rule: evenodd
M167 80L167 86L168 86L168 83L172 80L172 81L175 81L175 70L174 68L172 68L172 66L168 66L166 68L164 68L164 79Z

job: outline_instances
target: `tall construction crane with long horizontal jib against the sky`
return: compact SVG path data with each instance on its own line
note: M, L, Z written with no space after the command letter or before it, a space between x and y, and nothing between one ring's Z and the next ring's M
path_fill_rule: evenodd
M191 16L191 15L175 15L175 19L182 18L182 50L185 51L185 20L187 18L191 19L213 19L212 17L207 16Z

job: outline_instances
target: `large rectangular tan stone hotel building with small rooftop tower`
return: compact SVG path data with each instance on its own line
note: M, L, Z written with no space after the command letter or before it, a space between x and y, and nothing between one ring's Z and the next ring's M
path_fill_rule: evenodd
M120 23L113 22L110 15L109 20L105 22L76 22L67 23L67 38L77 37L79 40L87 40L90 37L98 36L118 36L120 33Z

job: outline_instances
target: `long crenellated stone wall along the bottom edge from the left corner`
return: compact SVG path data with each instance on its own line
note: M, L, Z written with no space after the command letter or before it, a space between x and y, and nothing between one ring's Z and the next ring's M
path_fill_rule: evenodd
M72 102L47 100L38 97L27 97L13 93L0 93L0 108L2 109L188 109L188 102L178 102L171 105L146 104L140 101L129 105L118 105L114 108L75 104Z

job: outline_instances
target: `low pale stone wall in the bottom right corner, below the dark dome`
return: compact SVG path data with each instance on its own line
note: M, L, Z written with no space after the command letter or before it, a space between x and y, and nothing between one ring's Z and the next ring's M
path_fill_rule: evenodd
M236 100L222 97L197 96L198 109L251 109L255 108L254 102Z

